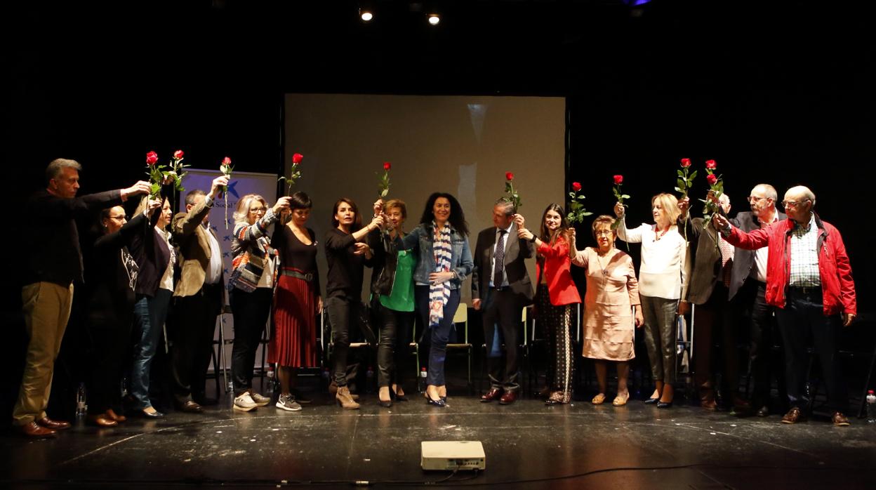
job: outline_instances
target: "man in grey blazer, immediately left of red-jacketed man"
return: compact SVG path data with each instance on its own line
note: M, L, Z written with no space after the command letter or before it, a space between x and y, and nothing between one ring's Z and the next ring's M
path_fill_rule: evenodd
M775 208L779 195L769 184L758 184L748 196L751 211L737 213L731 224L746 233L781 221L785 213ZM752 407L758 416L769 415L770 376L773 364L774 307L767 304L767 254L769 247L758 250L736 248L733 254L730 292L734 324L749 334L749 359L752 370ZM780 392L784 386L782 369L774 370Z

